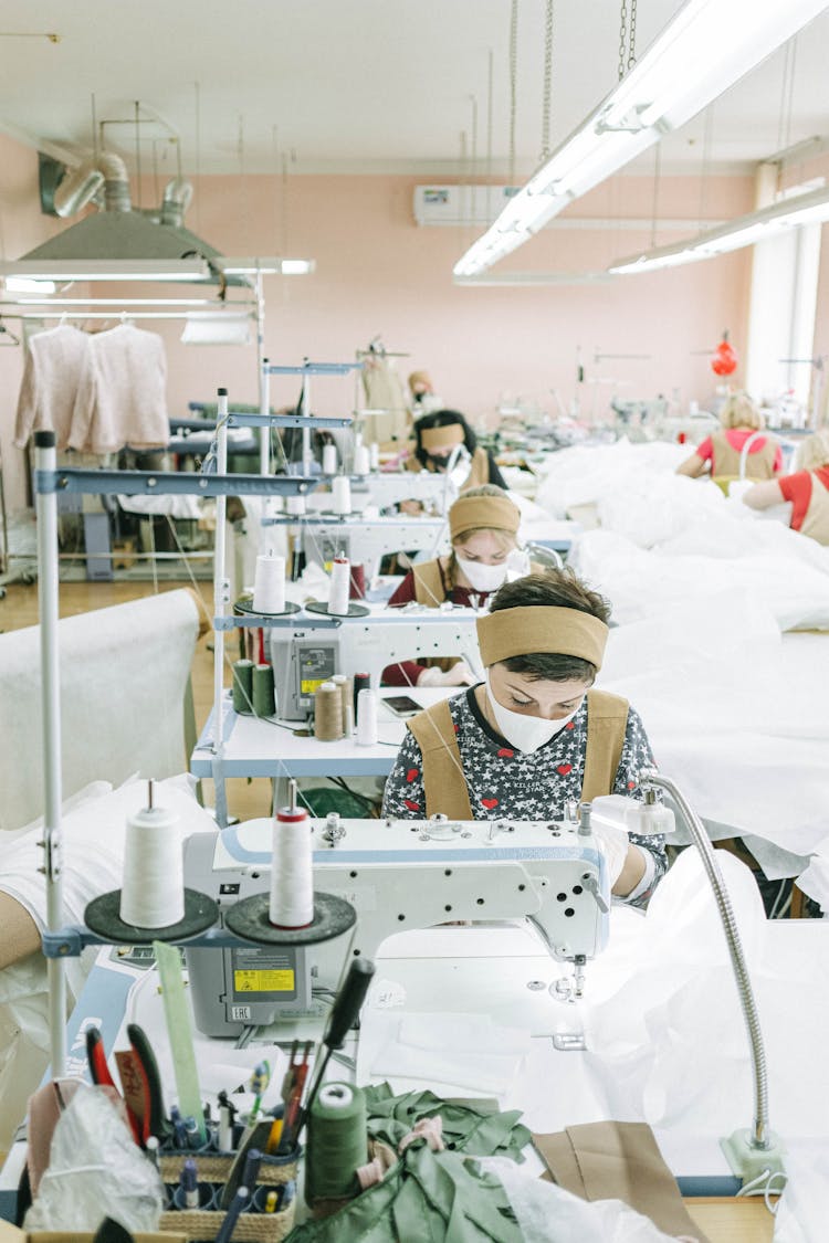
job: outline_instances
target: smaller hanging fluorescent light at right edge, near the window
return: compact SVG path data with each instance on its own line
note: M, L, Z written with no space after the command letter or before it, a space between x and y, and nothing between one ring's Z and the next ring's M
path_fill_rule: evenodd
M619 259L608 268L609 272L653 272L659 267L679 267L680 264L694 264L701 259L713 259L730 250L753 246L767 237L800 225L822 224L829 220L829 190L812 190L790 199L782 199L759 211L737 216L718 229L685 237L672 246L657 246L641 255Z

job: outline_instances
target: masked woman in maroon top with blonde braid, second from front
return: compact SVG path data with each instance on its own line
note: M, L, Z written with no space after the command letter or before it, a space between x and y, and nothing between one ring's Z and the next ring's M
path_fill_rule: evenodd
M400 608L416 600L440 608L445 600L480 608L507 578L520 578L531 568L518 548L521 513L506 492L493 484L472 487L449 511L452 551L447 557L418 562L389 600ZM404 660L383 671L384 686L462 686L472 674L462 660L437 660L421 665Z

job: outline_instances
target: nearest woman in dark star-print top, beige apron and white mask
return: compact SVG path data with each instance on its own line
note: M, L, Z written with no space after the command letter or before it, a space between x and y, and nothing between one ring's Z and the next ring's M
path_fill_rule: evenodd
M636 797L653 766L628 701L590 690L610 607L570 569L506 583L477 634L486 681L406 722L383 815L561 819L564 804ZM608 844L611 891L643 906L667 869L661 835Z

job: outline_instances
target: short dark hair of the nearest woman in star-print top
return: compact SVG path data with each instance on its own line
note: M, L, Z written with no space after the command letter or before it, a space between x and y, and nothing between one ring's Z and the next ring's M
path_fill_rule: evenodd
M501 609L523 609L533 605L578 609L604 622L610 620L610 602L577 577L569 566L548 569L543 574L527 574L500 587L490 603L490 613ZM595 680L597 666L580 656L567 656L557 651L533 651L524 656L510 656L502 661L511 674L523 674L538 681L590 682Z

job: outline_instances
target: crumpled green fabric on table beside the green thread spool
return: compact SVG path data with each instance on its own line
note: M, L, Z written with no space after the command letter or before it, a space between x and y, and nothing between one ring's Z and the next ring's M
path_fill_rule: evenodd
M419 1119L440 1114L445 1151L415 1140L383 1182L338 1213L295 1227L288 1243L521 1243L501 1182L474 1160L522 1160L529 1131L517 1111L482 1114L430 1091L393 1096L388 1084L364 1093L369 1135L396 1149Z

